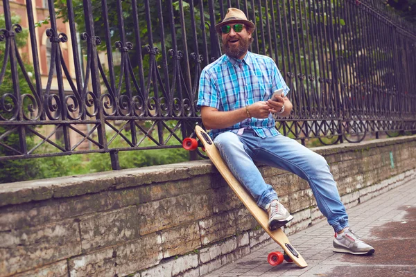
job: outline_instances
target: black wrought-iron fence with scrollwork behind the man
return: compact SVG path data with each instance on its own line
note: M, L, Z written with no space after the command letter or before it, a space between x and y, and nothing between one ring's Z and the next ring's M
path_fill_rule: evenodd
M41 22L26 1L32 74L12 2L0 26L0 161L110 152L117 169L119 151L180 148L200 124L198 79L221 55L214 25L229 6L255 22L250 50L272 57L291 88L293 112L277 123L285 135L337 143L416 130L416 28L382 1L49 0ZM1 90L5 79L12 89Z

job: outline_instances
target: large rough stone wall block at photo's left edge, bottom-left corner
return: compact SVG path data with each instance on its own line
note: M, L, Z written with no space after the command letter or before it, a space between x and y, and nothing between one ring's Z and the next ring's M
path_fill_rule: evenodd
M5 275L81 253L78 222L65 220L0 233L0 269Z

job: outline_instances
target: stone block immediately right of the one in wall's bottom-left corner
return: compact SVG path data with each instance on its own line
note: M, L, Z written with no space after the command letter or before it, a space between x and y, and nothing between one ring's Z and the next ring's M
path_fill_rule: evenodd
M83 251L93 251L139 236L137 208L130 206L80 217Z

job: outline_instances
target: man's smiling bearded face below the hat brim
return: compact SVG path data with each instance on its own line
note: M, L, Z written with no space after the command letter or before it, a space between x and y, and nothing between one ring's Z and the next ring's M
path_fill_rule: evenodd
M236 24L229 24L233 27ZM229 56L241 60L248 51L252 39L252 32L243 25L243 29L237 33L234 28L230 28L229 33L222 33L223 52Z

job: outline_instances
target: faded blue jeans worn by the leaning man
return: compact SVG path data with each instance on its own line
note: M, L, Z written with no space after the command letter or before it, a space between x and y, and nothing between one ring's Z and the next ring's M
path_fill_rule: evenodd
M281 134L262 139L252 130L244 130L241 135L223 132L216 136L214 144L236 179L261 208L266 209L267 204L277 199L277 193L266 184L254 161L288 170L308 181L318 208L333 229L338 232L349 226L328 163L320 154Z

